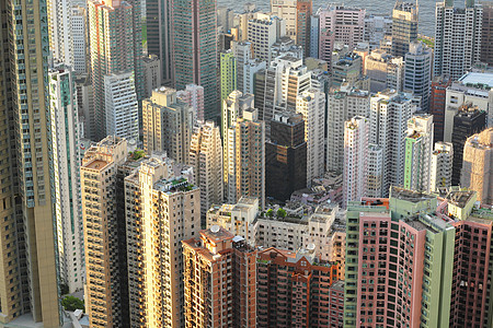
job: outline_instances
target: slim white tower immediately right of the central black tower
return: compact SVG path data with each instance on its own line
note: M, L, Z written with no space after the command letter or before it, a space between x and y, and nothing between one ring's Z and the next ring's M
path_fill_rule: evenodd
M296 113L305 119L305 141L307 142L307 183L325 172L324 137L325 94L318 89L301 92L296 98Z

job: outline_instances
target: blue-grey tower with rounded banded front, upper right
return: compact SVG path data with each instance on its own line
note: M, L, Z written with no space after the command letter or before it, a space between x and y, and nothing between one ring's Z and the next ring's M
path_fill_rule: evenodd
M421 96L423 110L429 108L429 92L432 81L432 50L422 42L409 45L409 52L404 60L404 90Z

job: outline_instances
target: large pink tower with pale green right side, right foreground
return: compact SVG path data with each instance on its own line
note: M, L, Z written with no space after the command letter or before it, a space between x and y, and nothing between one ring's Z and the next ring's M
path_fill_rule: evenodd
M436 206L395 187L390 199L349 204L344 327L448 323L455 231Z

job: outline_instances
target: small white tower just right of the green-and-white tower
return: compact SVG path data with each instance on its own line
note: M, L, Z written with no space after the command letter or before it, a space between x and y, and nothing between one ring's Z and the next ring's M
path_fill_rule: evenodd
M454 165L454 145L451 142L435 142L429 168L429 187L432 192L446 195L451 186Z

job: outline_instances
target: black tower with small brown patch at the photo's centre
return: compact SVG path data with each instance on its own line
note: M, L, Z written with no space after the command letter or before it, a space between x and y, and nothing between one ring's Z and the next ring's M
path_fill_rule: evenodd
M301 115L275 114L265 143L265 196L287 200L307 187L307 142Z

